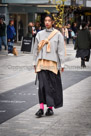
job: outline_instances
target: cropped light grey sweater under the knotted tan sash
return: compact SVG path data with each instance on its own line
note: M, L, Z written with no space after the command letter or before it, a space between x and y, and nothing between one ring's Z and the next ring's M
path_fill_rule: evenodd
M38 54L38 43L41 40L45 40L48 38L50 33L54 30L51 29L44 29L38 32L35 40L34 45L34 52L33 52L33 65L37 65L39 59L51 60L57 62L58 67L64 67L64 56L65 56L65 49L64 49L64 38L63 35L58 32L56 35L50 39L51 45L51 52L46 51L46 45L41 49L40 53Z

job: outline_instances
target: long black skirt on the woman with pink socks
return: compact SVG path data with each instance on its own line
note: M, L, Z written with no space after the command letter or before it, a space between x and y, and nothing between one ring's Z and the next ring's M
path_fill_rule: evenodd
M63 106L63 89L60 72L58 74L42 70L38 72L39 79L39 103L47 107L59 108Z

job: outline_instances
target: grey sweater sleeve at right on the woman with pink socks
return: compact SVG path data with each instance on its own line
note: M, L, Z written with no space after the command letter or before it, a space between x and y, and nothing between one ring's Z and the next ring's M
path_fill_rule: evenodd
M61 63L61 67L64 67L64 61L65 61L65 47L64 47L64 38L61 33L59 33L58 37L58 57L59 57L59 63Z

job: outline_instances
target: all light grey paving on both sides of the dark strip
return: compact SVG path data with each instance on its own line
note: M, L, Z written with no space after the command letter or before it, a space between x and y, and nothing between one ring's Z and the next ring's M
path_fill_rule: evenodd
M20 51L19 46L17 49ZM15 57L4 51L0 61L0 93L35 80L32 54L19 52ZM91 60L81 68L73 45L67 45L65 66L68 72L91 71ZM54 116L38 119L34 115L38 109L37 104L1 124L0 136L91 136L91 76L64 90L64 106L54 109Z

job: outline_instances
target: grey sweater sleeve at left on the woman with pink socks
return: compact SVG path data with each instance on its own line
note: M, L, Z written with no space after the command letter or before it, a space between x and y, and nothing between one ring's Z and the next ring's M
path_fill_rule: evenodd
M39 43L39 35L37 34L35 38L34 49L33 49L33 66L36 65L36 59L38 55L38 43Z

